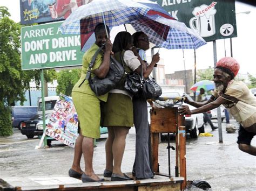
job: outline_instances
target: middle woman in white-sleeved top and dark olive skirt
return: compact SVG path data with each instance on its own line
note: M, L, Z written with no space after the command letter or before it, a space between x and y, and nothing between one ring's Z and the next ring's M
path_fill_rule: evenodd
M140 61L131 51L132 36L129 32L119 32L114 38L114 58L123 63L126 73L140 72ZM105 143L106 168L104 177L111 177L111 181L131 180L122 172L121 165L125 150L125 139L133 126L132 96L124 89L125 75L116 88L109 92L104 105L104 126L107 126L109 136Z

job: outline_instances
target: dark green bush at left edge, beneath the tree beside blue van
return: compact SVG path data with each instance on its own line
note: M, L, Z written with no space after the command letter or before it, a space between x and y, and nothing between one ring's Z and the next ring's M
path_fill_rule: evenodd
M0 136L12 135L11 109L0 102Z

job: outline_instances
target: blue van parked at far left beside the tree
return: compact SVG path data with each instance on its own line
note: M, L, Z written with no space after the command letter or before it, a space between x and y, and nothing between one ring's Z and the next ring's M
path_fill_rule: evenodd
M37 106L15 106L12 107L11 121L13 128L21 128L21 123L36 118Z

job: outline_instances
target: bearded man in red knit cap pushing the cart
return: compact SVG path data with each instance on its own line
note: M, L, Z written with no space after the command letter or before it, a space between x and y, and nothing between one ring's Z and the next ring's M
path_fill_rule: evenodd
M256 155L256 147L251 145L251 140L256 135L256 98L244 82L233 80L239 68L239 63L233 58L220 59L214 69L215 89L210 100L203 103L185 100L185 103L197 109L190 110L187 105L183 105L179 112L180 115L198 114L223 104L240 123L237 141L239 149Z

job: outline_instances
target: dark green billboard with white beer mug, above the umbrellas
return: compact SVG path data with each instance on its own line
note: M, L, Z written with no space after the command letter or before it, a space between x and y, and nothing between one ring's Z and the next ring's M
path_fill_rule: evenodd
M237 37L234 0L158 0L179 22L196 31L205 41Z

